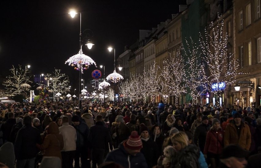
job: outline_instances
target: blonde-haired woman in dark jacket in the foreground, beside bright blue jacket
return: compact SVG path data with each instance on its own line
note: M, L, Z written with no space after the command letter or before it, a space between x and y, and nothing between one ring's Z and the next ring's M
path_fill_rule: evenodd
M172 161L174 167L197 168L199 167L199 148L189 144L187 134L179 132L171 138L173 147L179 155Z

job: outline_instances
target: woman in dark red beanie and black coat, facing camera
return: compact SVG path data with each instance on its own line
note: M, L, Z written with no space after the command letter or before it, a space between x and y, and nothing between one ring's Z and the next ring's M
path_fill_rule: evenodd
M141 153L145 156L148 167L157 165L158 148L156 142L154 142L149 136L149 129L145 124L140 125L140 135L142 140Z

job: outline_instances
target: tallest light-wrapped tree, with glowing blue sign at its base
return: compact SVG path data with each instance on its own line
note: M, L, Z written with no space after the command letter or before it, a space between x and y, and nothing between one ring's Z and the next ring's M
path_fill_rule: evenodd
M218 97L221 97L225 86L236 81L236 75L245 74L237 72L238 60L227 52L228 34L223 32L223 26L223 20L219 17L216 26L213 23L210 25L213 34L205 29L205 35L200 38L200 48L209 67L209 86Z

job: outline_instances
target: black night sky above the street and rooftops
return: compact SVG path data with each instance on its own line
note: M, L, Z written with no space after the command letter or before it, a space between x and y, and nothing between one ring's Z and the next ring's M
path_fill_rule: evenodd
M179 4L185 0L161 1L66 1L22 0L0 2L0 76L6 77L9 69L18 64L31 65L32 74L51 73L61 69L70 82L78 83L78 71L65 61L79 51L80 15L71 18L70 9L82 12L82 31L91 29L95 44L91 50L83 46L85 55L97 64L84 72L90 78L94 69L105 65L105 75L113 71L113 52L116 59L125 45L139 38L139 29L157 27L161 21L171 19ZM103 72L103 69L102 69ZM76 84L77 86L77 84Z

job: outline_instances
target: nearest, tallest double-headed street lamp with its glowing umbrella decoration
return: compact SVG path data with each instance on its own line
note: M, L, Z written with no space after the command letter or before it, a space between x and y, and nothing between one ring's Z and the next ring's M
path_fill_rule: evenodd
M72 18L75 17L77 12L75 10L71 10L69 12ZM89 30L89 29L86 29ZM91 30L90 30L91 31ZM83 31L84 33L85 31ZM91 31L92 32L92 31ZM79 71L79 110L81 111L81 74L83 74L83 70L87 70L88 67L92 64L96 66L96 63L93 61L93 59L82 52L82 45L83 45L83 40L81 39L82 32L81 32L81 12L80 12L80 50L78 54L70 57L65 63L68 63L70 66L73 66L75 70ZM86 37L89 38L88 34L86 34ZM84 38L83 38L84 39ZM92 48L94 45L90 39L87 40L87 47L89 49Z

